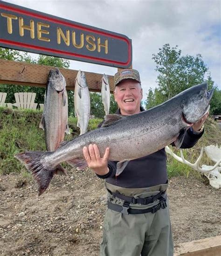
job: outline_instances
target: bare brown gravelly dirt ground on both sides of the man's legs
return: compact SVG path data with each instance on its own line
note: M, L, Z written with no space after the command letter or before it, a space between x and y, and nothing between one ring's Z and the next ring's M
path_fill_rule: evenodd
M90 170L56 176L38 197L24 174L0 176L0 254L98 256L106 208L104 181ZM175 247L221 235L221 190L191 175L170 180Z

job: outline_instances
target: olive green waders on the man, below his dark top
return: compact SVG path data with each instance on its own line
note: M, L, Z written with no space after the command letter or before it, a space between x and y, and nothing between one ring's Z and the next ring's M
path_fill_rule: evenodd
M134 198L146 198L165 191L167 184L148 188L122 188L106 183L112 193L120 193ZM108 201L123 206L124 200L108 192ZM166 194L164 194L166 197ZM131 209L149 209L159 204L159 200L148 205L130 203ZM168 201L167 201L168 204ZM121 207L120 207L121 208ZM101 256L173 256L173 238L169 208L159 208L155 213L122 214L107 209L104 218Z

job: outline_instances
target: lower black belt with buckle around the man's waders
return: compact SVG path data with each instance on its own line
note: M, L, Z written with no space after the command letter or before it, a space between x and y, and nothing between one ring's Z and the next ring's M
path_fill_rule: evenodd
M110 201L107 202L107 207L113 211L122 213L122 214L145 214L145 213L156 213L160 208L165 209L166 199L164 197L159 198L159 203L152 208L148 209L131 209L129 202L124 202L123 206L116 205L111 203Z

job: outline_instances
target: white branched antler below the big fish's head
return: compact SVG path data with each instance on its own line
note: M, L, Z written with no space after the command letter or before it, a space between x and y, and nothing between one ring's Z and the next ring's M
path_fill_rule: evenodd
M166 146L165 147L165 150L168 154L172 155L176 160L178 160L179 162L183 163L183 164L186 164L187 166L190 166L191 168L193 168L194 170L196 171L200 171L202 173L208 173L208 172L211 172L213 171L217 166L219 166L219 164L221 163L221 159L214 165L212 166L210 169L203 169L203 168L200 168L199 164L200 164L200 160L202 158L202 155L203 155L203 148L201 149L201 152L200 152L200 156L198 157L198 159L195 161L194 164L191 164L189 161L187 161L186 159L184 159L184 156L183 156L183 152L182 150L180 150L180 155L181 157L179 157L178 155L176 155L175 153L173 153L173 151L168 147Z

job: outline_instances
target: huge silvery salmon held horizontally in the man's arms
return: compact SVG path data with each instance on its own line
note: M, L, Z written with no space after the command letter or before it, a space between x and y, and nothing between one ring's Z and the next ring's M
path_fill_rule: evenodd
M179 148L186 130L209 111L213 90L207 83L193 86L150 110L131 116L108 115L102 127L89 131L55 152L24 152L15 157L33 173L39 194L48 187L54 173L64 173L60 163L72 161L82 169L87 164L83 147L97 144L101 155L110 147L109 160L118 161L117 175L126 162L152 154L172 142Z

